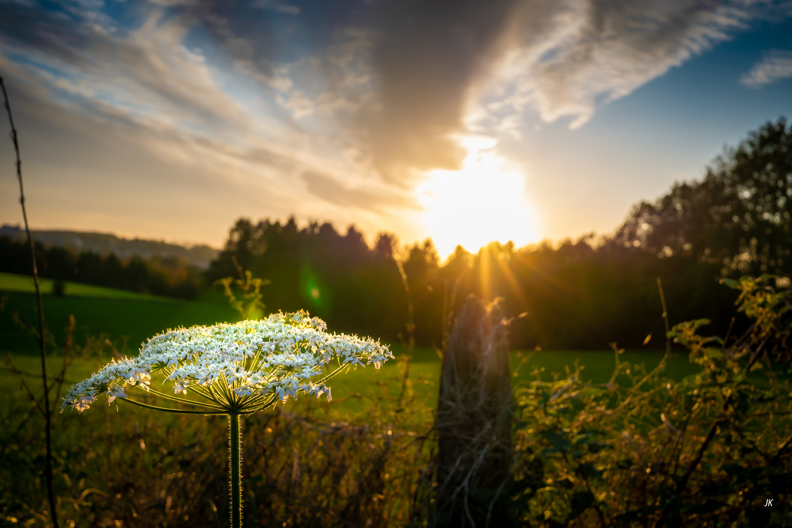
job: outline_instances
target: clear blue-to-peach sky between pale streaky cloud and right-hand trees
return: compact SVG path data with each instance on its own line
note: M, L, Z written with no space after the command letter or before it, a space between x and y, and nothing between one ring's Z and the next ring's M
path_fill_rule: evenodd
M790 77L767 85L741 82L769 51L789 49L789 19L760 23L602 105L577 130L569 130L569 118L528 118L538 130L505 148L524 160L529 187L546 200L548 236L581 233L581 215L589 230L607 233L639 199L701 177L725 146L767 120L792 116L792 66Z

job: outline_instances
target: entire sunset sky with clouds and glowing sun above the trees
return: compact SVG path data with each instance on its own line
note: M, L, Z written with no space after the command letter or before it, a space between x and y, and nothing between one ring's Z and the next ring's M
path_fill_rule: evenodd
M34 228L294 215L445 256L611 233L792 116L792 1L0 0L0 75Z

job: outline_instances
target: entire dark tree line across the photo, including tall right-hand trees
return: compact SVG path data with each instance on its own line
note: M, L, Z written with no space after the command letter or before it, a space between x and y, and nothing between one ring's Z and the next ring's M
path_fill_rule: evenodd
M438 348L470 294L502 299L516 348L651 347L664 346L657 279L672 324L708 317L713 333L741 329L731 318L736 294L720 279L792 274L790 200L792 127L781 118L725 150L703 179L638 203L598 240L493 242L475 254L458 247L441 262L431 240L405 247L382 233L369 246L354 226L340 233L329 223L240 218L206 272L42 246L37 254L44 276L185 298L249 270L269 281L267 311L306 309L332 328L393 341L412 331ZM28 268L24 248L0 239L0 271Z

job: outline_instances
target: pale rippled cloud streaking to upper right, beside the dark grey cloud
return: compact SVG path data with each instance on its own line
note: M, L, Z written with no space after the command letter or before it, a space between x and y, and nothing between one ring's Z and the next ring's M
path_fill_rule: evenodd
M602 104L731 39L775 12L767 2L626 0L521 6L508 59L491 83L489 116L535 108L581 127ZM508 112L507 112L508 113Z

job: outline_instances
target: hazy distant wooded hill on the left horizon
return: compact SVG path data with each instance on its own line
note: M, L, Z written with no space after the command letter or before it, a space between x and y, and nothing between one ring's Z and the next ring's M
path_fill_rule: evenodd
M128 238L116 237L116 235L109 233L33 230L32 235L34 241L44 245L74 249L74 251L78 252L90 251L101 255L115 253L121 259L131 256L143 258L175 256L204 269L209 267L209 263L215 260L219 253L219 249L211 248L208 245L193 245L187 248L183 245L169 244L158 240L140 240L139 238L129 240ZM25 230L6 224L0 227L0 236L17 240L24 239Z

